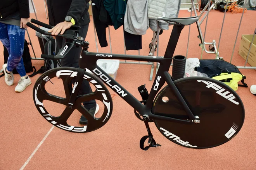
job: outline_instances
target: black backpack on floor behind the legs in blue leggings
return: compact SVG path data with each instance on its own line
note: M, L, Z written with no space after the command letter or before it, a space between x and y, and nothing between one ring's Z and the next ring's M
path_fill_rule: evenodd
M23 54L22 54L22 59L23 59L23 63L24 63L26 73L29 73L29 72L33 71L33 69L35 69L35 71L36 71L35 66L32 66L31 55L29 53L29 47L28 47L29 44L31 44L31 43L28 42L25 39L24 40L24 51L23 51ZM3 46L3 57L4 57L4 64L6 64L7 61L8 61L8 58L9 58L9 53L8 53L7 48L5 48L5 46ZM13 74L18 74L16 68L14 68L14 70L12 70L12 73ZM2 75L0 75L0 77L2 77L3 75L4 75L4 73Z

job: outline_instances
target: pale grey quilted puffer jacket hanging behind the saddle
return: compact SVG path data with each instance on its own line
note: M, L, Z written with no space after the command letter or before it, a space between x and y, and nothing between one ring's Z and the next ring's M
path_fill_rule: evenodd
M148 0L149 27L157 31L157 27L168 30L169 25L163 20L156 20L158 17L178 17L181 0Z

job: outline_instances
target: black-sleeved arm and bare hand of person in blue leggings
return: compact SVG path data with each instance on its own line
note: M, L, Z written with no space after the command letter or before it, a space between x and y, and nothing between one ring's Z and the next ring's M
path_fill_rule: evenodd
M29 5L28 0L17 0L19 4L19 15L21 17L21 28L27 28L29 22Z

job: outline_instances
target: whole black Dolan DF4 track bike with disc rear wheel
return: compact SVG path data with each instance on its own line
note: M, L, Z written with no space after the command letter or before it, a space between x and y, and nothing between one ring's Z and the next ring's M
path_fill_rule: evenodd
M148 135L140 140L140 148L143 150L161 146L154 140L149 122L154 122L157 129L167 139L187 148L211 148L234 138L242 128L245 111L240 97L232 88L207 77L187 77L174 81L168 73L183 27L193 24L198 18L158 18L157 20L164 20L174 25L164 57L89 52L89 43L78 35L79 27L75 26L71 26L63 35L57 35L66 39L62 49L56 56L42 54L41 57L61 59L74 45L82 47L79 68L54 68L46 71L38 78L33 89L33 99L40 114L57 128L66 131L86 133L99 129L107 123L112 113L112 98L105 86L107 85L131 105L135 115L145 123ZM52 28L52 26L38 20L32 19L31 22L49 29ZM30 22L27 25L41 34L51 35ZM160 66L150 93L148 93L145 85L138 87L142 96L140 101L102 70L97 65L98 59L150 61L158 62ZM85 68L93 74L86 72ZM66 97L52 95L45 89L46 83L51 82L56 77L62 80ZM90 82L95 90L92 93L78 95L81 82L85 80ZM168 85L163 87L165 82ZM97 99L103 103L102 109L104 111L101 117L89 114L88 110L81 104L92 99ZM44 100L62 104L65 109L60 116L53 116L45 109ZM67 119L75 109L88 119L88 124L79 127L67 123ZM149 138L149 146L144 148L144 142L147 138Z

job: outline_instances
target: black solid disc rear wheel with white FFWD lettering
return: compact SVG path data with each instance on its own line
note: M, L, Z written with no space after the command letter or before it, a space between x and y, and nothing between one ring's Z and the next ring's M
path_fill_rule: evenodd
M194 116L199 116L200 123L154 120L167 139L187 148L212 148L230 141L240 131L245 117L244 105L232 88L208 77L181 78L174 83ZM189 119L168 86L157 94L152 113Z

